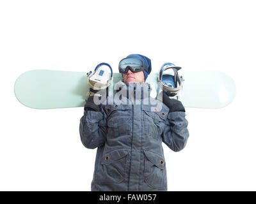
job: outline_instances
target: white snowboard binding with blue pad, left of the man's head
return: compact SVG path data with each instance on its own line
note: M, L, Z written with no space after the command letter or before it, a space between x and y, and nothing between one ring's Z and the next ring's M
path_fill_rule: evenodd
M109 69L106 69L106 66ZM113 82L113 70L111 66L105 62L98 64L93 72L90 71L86 74L88 76L87 83L90 85L90 92L88 92L88 96L94 96L100 90L107 89Z

